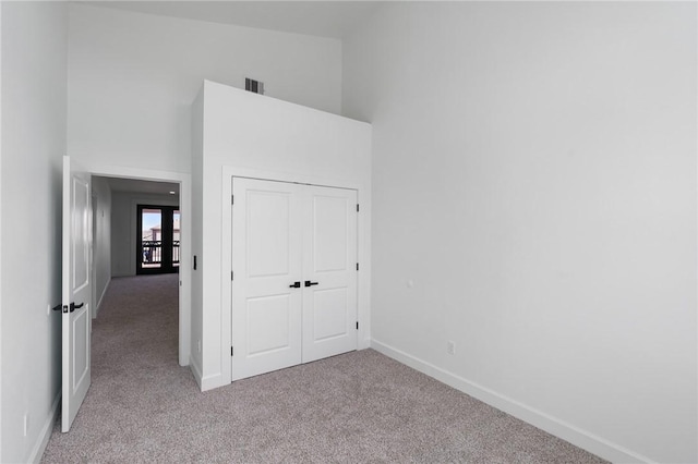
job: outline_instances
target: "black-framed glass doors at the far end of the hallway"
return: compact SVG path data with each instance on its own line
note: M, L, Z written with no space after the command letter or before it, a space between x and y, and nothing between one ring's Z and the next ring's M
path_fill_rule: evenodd
M136 274L178 272L179 206L139 205L136 223Z

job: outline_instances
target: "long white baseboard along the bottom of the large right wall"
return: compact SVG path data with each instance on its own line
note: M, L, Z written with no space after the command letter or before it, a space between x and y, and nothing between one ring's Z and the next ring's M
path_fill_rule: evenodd
M500 394L486 387L480 386L468 379L452 374L441 367L426 363L416 356L407 354L390 345L372 340L371 347L375 351L392 357L422 374L435 378L449 387L460 390L464 393L473 396L483 403L486 403L497 410L504 411L524 422L527 422L546 432L562 438L576 447L589 451L598 456L614 463L652 463L653 461L639 453L630 451L618 444L612 443L601 437L580 429L571 424L551 416L542 411L530 407L512 398Z

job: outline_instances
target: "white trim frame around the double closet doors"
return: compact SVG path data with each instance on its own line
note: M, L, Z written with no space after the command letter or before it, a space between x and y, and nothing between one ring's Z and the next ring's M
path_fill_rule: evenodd
M357 256L360 264L357 279L357 317L359 319L359 333L357 350L371 346L371 188L359 182L329 176L318 176L299 173L266 171L257 169L237 168L224 166L221 170L221 312L220 312L220 373L224 384L232 381L232 362L230 346L232 340L232 208L230 198L232 195L232 178L248 178L262 181L276 181L317 185L325 187L350 188L357 191L357 200L361 205L357 218Z

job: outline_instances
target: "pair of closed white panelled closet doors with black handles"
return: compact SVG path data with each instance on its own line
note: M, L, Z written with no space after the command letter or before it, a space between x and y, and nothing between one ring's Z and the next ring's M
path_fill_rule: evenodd
M357 191L232 180L232 380L357 349Z

